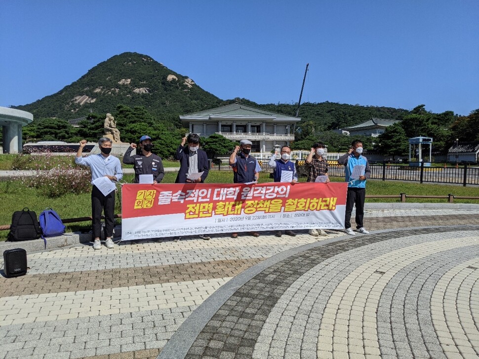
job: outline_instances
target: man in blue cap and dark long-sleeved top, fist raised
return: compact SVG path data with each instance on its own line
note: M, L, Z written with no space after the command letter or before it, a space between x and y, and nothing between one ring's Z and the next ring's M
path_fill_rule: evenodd
M130 144L123 156L123 163L133 165L135 169L134 183L140 183L140 175L153 175L153 183L160 183L164 177L163 162L161 157L152 153L153 143L150 136L140 138L141 154L131 155L136 144Z

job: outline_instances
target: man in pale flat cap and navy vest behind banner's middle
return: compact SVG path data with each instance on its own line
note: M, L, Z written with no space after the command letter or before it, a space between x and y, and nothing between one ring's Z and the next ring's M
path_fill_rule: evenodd
M249 140L241 140L239 146L235 146L235 150L230 156L230 166L233 168L234 183L256 182L259 178L261 167L253 156L250 156L252 142ZM251 232L253 237L259 237L258 232ZM238 233L233 233L232 238L237 238Z

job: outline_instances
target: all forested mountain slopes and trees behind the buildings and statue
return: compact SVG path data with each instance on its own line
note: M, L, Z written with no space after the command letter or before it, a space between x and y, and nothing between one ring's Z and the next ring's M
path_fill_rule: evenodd
M76 142L81 138L93 141L103 133L103 119L110 112L117 118L125 140L134 141L140 133L151 132L165 141L163 146L171 147L165 148L170 153L187 131L181 129L180 115L234 102L290 116L297 110L297 104L256 104L240 97L221 100L188 76L166 68L147 55L133 52L113 56L56 94L16 108L33 113L35 118L23 128L24 141ZM456 138L477 140L475 133L469 131L477 128L477 113L457 117L452 111L431 113L425 105L406 110L327 101L304 103L298 115L302 120L294 127L296 139L292 145L307 148L320 138L331 149L342 150L350 139L332 130L376 117L403 121L376 140L364 138L368 147L385 154L402 155L407 151L407 138L428 136L434 138L433 149L444 153ZM78 118L86 118L80 122L81 127L72 127L67 121Z

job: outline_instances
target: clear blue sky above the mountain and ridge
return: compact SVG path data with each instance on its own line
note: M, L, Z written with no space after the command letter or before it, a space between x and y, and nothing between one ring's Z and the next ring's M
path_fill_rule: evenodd
M0 106L125 51L221 99L479 108L478 0L0 0Z

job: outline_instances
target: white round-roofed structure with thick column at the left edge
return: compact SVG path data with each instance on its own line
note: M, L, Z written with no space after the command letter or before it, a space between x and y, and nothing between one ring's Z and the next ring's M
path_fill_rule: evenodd
M33 121L33 114L20 109L0 107L3 153L22 152L22 127Z

